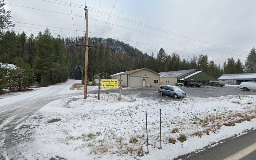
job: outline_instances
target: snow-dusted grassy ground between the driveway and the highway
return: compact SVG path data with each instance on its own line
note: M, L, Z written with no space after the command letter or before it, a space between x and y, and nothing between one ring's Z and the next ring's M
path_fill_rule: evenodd
M172 102L118 98L89 94L45 105L15 128L22 140L18 150L26 159L173 159L256 126L256 95Z

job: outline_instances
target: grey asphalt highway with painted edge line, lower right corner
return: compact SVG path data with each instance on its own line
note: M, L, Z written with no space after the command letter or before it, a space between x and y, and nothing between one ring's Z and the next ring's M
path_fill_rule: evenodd
M255 160L256 151L250 153L249 146L256 143L256 130L250 130L240 134L239 136L233 136L225 140L217 142L218 145L212 144L214 147L207 146L200 151L192 152L183 156L179 156L176 160ZM243 152L239 152L243 150ZM252 148L252 150L255 149ZM244 154L245 153L245 154ZM248 154L249 153L249 154ZM248 154L248 155L247 155Z

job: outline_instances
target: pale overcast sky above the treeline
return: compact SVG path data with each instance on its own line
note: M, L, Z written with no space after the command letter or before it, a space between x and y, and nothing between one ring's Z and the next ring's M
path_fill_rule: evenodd
M4 7L11 11L16 33L24 31L27 36L31 33L37 36L47 26L52 36L60 34L62 37L69 37L84 35L86 3L89 36L119 39L143 53L153 52L155 56L161 47L167 54L176 52L181 59L186 60L190 60L194 54L197 57L207 54L209 61L213 60L221 66L231 57L235 60L240 58L244 64L248 53L256 44L255 0L70 2L5 0Z

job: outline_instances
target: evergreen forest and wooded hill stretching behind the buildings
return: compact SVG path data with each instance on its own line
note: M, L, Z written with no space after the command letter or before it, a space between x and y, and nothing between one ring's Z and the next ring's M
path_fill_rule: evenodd
M68 78L82 79L85 50L84 47L76 46L76 44L84 44L84 37L53 37L48 28L44 33L39 32L37 36L33 34L27 36L25 32L16 34L13 30L7 30L0 42L0 62L16 64L20 67L17 69L20 70L29 70L31 84L37 81L40 86L47 86L66 81ZM138 68L149 68L158 73L197 68L216 79L222 74L256 72L255 61L253 61L256 59L255 48L252 48L244 66L240 59L234 60L232 57L224 64L215 64L214 61L208 60L207 55L202 54L198 57L194 55L190 60L181 60L179 54L174 52L172 55L167 55L163 48L160 48L156 55L153 52L149 55L129 44L111 38L89 37L88 42L89 45L97 46L97 48L88 50L89 81L93 81L99 73L103 78L110 78L112 74ZM2 77L4 73L8 74L4 70L2 68L0 71ZM17 77L22 80L22 75L13 77L8 75L7 77L9 78L2 80L5 82L0 81L5 84L2 86L10 86L8 83L11 79L17 79ZM16 87L15 83L12 84L12 90L20 90L29 86L27 84L24 87L18 87L20 85L21 82L17 82Z

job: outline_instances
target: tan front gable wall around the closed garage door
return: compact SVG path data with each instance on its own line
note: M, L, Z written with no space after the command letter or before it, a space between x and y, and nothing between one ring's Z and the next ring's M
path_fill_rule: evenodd
M127 78L128 86L129 86L129 76L141 76L141 87L142 87L143 81L145 81L145 87L147 87L147 84L153 87L159 86L159 75L147 69L143 69L138 72L129 74ZM155 83L154 80L156 80L157 83Z

